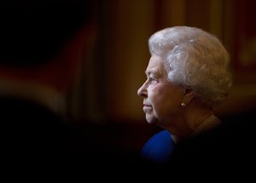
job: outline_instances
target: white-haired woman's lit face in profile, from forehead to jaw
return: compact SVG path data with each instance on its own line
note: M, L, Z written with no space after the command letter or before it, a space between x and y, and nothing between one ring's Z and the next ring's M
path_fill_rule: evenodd
M143 96L146 119L148 123L170 126L173 117L180 111L184 90L167 81L167 72L160 56L151 56L146 75L146 82L137 91L138 95Z

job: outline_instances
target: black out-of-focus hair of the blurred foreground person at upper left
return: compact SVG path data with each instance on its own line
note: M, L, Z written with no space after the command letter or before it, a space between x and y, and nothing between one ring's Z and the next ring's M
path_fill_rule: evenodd
M93 0L11 0L2 3L0 66L38 66L93 20Z

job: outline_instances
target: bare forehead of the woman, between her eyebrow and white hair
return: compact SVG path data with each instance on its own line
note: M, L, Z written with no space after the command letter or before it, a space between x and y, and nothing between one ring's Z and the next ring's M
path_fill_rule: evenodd
M164 61L160 56L152 55L150 60L148 61L146 74L150 75L151 73L160 75L164 75L166 73Z

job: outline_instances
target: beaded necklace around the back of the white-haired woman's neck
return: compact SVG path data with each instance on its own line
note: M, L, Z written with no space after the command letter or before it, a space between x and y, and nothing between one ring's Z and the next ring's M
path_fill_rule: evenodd
M213 127L217 126L220 122L218 117L215 117L212 115L211 117L207 118L203 123L199 125L197 129L193 132L192 136L195 136L197 134L201 134L202 132L207 131L208 129L212 129Z

